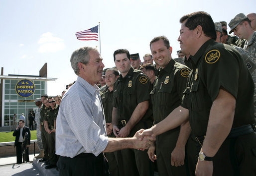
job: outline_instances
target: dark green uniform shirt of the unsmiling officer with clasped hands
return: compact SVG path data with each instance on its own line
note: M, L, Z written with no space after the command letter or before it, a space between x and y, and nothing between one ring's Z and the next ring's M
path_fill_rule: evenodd
M129 69L127 75L118 78L114 85L113 106L118 109L119 120L129 120L137 105L144 101L149 101L150 80L140 70ZM152 110L142 117L142 121L152 117Z

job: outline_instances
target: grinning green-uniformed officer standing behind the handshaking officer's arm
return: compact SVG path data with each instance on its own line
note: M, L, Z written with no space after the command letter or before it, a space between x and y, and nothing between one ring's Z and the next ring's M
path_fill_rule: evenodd
M150 42L153 59L161 67L150 92L154 123L167 117L182 100L190 69L171 58L172 47L165 36ZM185 145L191 132L189 122L156 136L156 156L159 176L184 176ZM151 157L151 153L149 153Z

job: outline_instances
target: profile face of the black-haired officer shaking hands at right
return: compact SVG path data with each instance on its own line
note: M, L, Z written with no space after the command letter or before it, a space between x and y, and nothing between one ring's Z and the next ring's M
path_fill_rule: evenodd
M185 26L187 20L183 21L180 28L180 35L178 38L178 42L180 43L181 52L185 55L190 55L191 48L194 45L194 30L189 30L188 27Z

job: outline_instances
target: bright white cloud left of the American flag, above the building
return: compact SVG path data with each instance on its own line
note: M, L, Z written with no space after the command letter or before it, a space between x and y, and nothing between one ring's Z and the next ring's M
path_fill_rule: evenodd
M40 53L57 52L65 48L63 40L58 37L54 37L51 32L42 34L38 44L40 44L38 49L38 52Z

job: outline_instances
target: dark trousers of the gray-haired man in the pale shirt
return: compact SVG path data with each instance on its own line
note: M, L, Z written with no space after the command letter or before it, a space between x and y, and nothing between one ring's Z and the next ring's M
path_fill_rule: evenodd
M57 163L60 176L109 176L108 162L100 154L82 153L74 158L62 157Z

